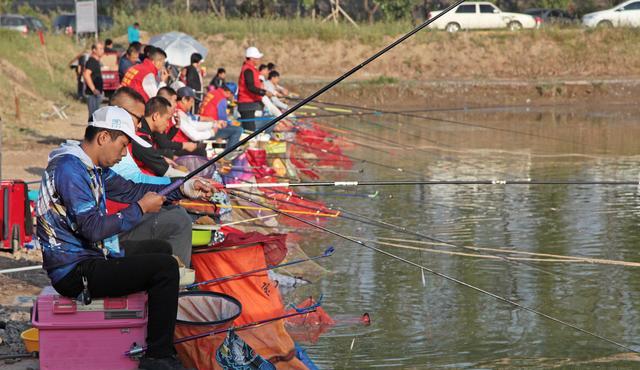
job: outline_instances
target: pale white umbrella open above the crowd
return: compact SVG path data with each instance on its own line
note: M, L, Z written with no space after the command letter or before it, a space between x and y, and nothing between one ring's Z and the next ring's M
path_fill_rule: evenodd
M191 54L207 56L207 48L193 37L182 32L168 32L151 38L149 44L162 48L167 53L167 61L179 67L191 64Z

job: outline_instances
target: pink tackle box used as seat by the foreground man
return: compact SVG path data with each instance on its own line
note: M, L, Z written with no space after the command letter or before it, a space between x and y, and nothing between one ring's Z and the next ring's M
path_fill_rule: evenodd
M90 305L42 290L33 306L40 331L41 370L133 370L138 361L124 353L144 346L147 295L96 299Z

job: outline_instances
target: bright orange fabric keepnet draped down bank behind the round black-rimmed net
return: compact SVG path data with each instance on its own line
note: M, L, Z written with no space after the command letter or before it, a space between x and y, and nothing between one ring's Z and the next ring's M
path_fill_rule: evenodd
M225 227L227 235L242 234L239 230ZM239 238L239 240L242 238ZM215 279L267 266L262 244L238 245L233 248L219 248L216 252L194 253L191 264L196 270L196 281ZM278 287L269 280L267 272L227 280L220 284L202 286L210 290L228 294L242 303L242 313L234 321L234 326L282 316L285 312ZM198 328L176 326L176 338L199 333ZM237 334L256 353L274 363L278 369L302 370L306 366L295 357L293 339L285 329L284 320L268 323L251 329L240 330ZM178 355L187 367L199 370L220 369L215 360L216 351L225 334L201 338L177 345Z

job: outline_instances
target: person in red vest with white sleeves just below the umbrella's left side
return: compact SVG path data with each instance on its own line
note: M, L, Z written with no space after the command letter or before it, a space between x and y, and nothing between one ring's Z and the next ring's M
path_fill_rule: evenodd
M122 79L122 86L129 86L142 95L145 103L156 96L158 89L166 86L169 72L164 68L167 54L164 50L154 47L140 64L129 68ZM160 72L160 81L156 76Z

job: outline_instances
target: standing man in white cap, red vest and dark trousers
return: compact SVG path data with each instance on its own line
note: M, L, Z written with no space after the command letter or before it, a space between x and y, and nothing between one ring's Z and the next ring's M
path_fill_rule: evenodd
M272 94L266 91L260 81L258 65L262 59L262 53L255 46L247 48L245 61L240 70L238 80L238 112L243 119L242 127L245 130L255 131L257 126L255 120L256 111L262 111L262 97L271 97Z

